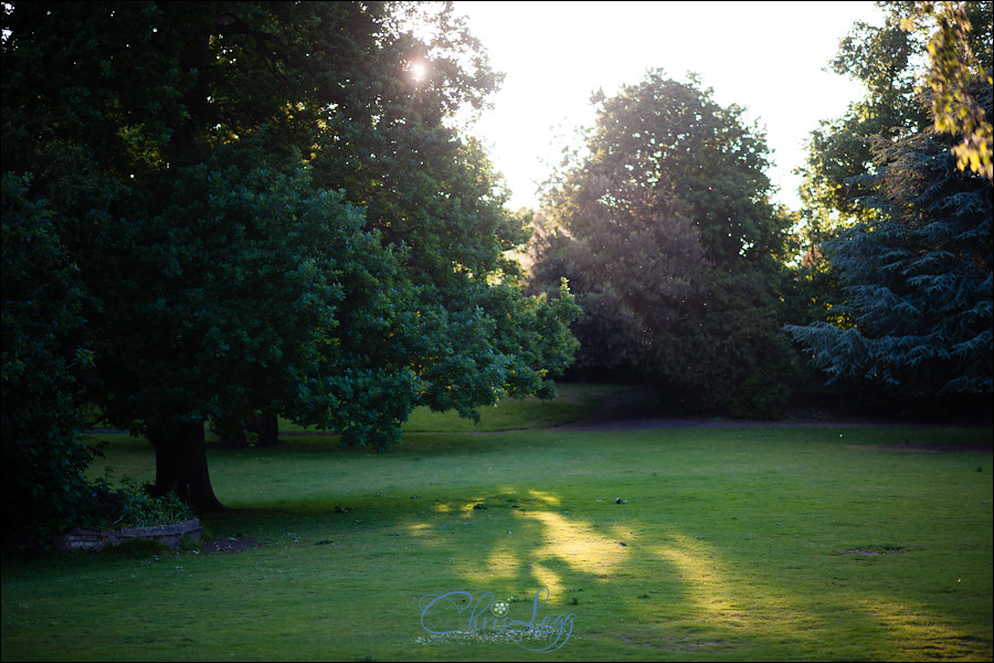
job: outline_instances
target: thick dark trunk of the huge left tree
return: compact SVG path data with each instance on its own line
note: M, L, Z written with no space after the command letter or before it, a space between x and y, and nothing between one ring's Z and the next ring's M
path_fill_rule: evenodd
M175 491L198 514L224 508L211 486L202 421L181 423L149 439L156 449L156 494Z

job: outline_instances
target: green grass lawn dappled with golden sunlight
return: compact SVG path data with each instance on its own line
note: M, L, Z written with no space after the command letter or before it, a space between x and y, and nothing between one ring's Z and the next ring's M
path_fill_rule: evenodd
M422 413L379 455L211 449L204 524L254 545L4 555L2 659L992 659L991 453L917 449L990 429L540 428L607 393L508 406L516 432Z

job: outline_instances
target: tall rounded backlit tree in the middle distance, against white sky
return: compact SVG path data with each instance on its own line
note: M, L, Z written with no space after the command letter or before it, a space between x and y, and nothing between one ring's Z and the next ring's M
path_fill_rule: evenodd
M784 220L762 134L711 94L651 71L595 95L586 154L549 188L536 278L577 293L578 368L648 378L686 409L772 415L791 364L774 305Z

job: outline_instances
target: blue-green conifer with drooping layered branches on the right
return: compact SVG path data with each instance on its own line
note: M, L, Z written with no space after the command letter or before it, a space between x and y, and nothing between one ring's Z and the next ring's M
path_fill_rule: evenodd
M980 95L991 115L991 88ZM829 379L903 397L992 390L992 192L953 137L880 141L868 219L827 242L846 298L834 323L789 327Z

